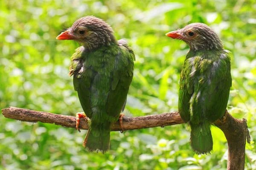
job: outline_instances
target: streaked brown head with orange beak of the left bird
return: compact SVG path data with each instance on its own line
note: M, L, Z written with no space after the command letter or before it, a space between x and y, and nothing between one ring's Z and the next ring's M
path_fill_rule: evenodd
M93 16L82 17L72 27L56 37L57 40L75 40L87 49L115 42L113 29L105 21Z

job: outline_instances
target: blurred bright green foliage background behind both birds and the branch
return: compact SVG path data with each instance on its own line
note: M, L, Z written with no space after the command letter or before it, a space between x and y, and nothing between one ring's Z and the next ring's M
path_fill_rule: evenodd
M189 23L212 27L231 51L228 103L246 118L256 169L256 3L254 0L0 0L0 109L14 106L75 116L79 99L68 77L76 42L55 37L83 16L107 21L136 54L126 110L133 116L177 111L179 74L188 46L165 34ZM0 170L224 170L227 141L217 127L211 155L196 155L186 125L111 132L111 150L88 153L86 130L20 122L0 115Z

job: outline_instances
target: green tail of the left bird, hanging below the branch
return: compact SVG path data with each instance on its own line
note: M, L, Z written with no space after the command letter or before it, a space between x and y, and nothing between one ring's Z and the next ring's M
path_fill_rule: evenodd
M109 150L110 145L110 122L93 123L89 122L89 130L84 138L83 146L89 152L105 153Z

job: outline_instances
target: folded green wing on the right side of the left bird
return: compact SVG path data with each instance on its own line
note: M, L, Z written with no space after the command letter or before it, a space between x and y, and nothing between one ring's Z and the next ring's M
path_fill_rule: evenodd
M125 40L119 40L119 52L115 59L111 88L106 103L106 113L118 117L124 109L134 71L135 55Z

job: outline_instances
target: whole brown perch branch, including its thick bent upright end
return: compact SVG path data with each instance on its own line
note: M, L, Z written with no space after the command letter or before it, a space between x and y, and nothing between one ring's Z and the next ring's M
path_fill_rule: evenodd
M9 107L2 110L3 116L25 122L55 123L64 127L76 127L76 117L60 114L32 111L23 108ZM149 127L164 127L185 123L178 112L161 113L149 116L123 117L124 130L143 129ZM225 115L213 123L219 127L226 136L228 144L227 170L244 170L245 143L250 143L250 134L246 119L239 120L231 116L227 111ZM80 129L88 129L85 119L81 119ZM114 123L112 131L122 131L119 122Z

